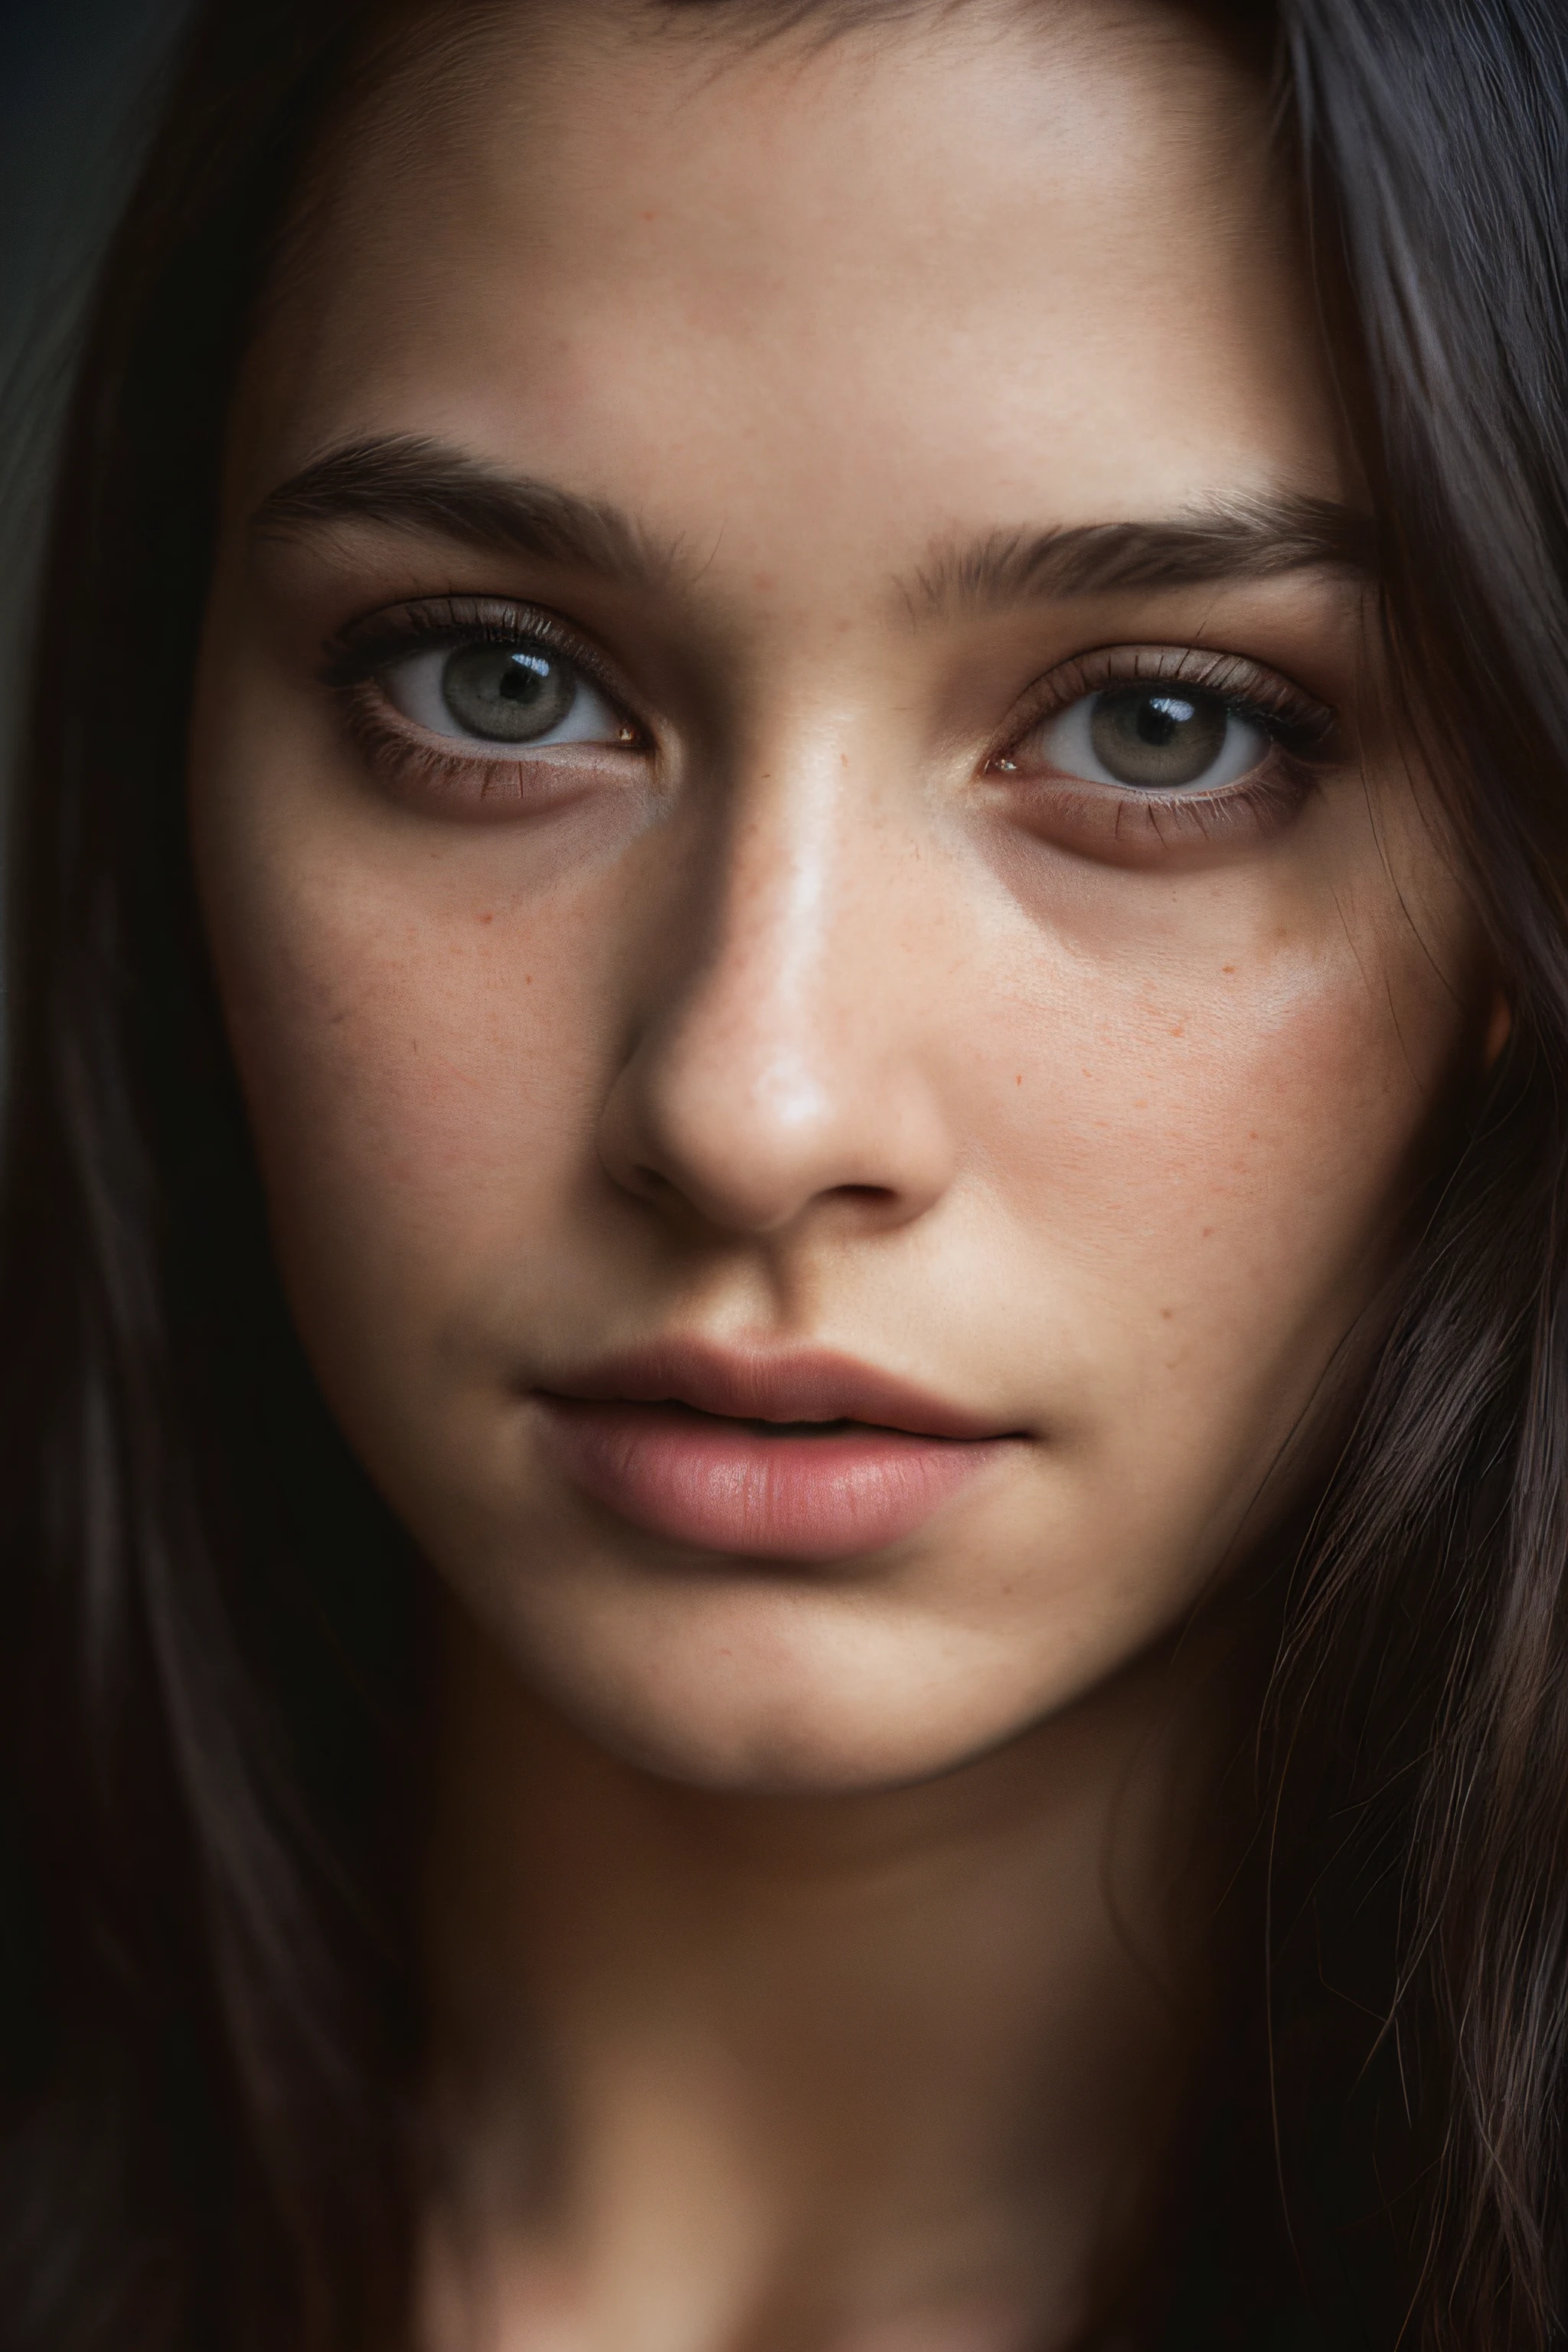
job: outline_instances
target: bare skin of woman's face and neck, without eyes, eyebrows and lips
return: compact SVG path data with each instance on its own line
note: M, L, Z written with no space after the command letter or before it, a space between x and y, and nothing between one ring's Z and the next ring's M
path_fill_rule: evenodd
M1354 508L1265 101L1171 9L743 47L574 0L317 169L233 423L193 833L294 1312L442 1595L421 2324L1065 2347L1218 1983L1173 1886L1194 1823L1229 1867L1194 1792L1251 1684L1199 1604L1500 1042L1363 581L966 590L1018 534ZM263 513L383 435L614 506L646 562ZM635 739L501 788L327 682L444 595L569 623ZM1333 734L1201 816L1072 783L1039 682L1135 647ZM672 1334L1018 1435L872 1555L679 1545L531 1397Z

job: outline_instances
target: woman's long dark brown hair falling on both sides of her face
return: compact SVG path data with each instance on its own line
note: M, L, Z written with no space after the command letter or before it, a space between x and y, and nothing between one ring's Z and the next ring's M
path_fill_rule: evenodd
M197 9L63 433L9 844L5 2352L407 2338L418 1576L280 1298L183 741L247 320L313 148L418 14ZM1394 673L1512 1004L1284 1564L1255 1950L1281 2194L1324 2307L1352 2241L1387 2244L1371 2340L1544 2352L1568 2326L1568 16L1246 14Z

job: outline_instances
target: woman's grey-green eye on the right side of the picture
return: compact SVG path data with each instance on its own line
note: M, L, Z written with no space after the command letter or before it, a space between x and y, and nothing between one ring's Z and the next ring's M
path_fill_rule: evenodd
M1269 731L1227 696L1159 677L1081 694L1027 739L1030 762L1124 793L1218 793L1269 748Z

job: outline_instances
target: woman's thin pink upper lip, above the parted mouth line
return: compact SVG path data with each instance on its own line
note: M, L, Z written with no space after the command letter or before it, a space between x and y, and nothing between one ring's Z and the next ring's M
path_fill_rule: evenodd
M541 1381L541 1395L595 1404L689 1404L729 1421L863 1421L917 1437L1020 1435L830 1348L658 1341Z

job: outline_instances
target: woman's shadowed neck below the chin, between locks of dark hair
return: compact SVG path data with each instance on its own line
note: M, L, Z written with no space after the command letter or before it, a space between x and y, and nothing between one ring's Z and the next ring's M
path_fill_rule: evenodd
M425 1924L428 2340L1065 2347L1211 2039L1215 1644L919 1788L618 1762L465 1623ZM1204 1726L1199 1733L1197 1726Z

